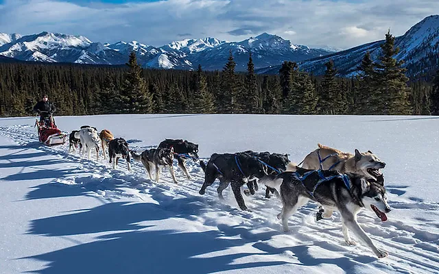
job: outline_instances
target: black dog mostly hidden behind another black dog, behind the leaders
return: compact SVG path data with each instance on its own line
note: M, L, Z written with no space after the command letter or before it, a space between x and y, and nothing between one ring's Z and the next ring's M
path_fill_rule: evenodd
M261 160L263 164L267 166L268 174L278 174L285 171L289 163L288 154L270 153L268 151L258 153L251 150L245 151L244 153L248 153ZM247 186L248 191L244 192L246 195L254 195L255 190L257 191L259 189L256 179L252 179L248 182ZM265 198L270 198L270 192L276 193L276 190L267 186L267 189L265 189Z

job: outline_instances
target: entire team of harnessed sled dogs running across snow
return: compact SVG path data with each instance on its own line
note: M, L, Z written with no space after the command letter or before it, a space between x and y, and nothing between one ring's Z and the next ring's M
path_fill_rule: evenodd
M95 149L99 160L99 147L106 158L106 148L110 163L116 168L119 158L126 159L128 170L130 156L145 166L148 176L158 182L163 167L167 167L174 183L177 183L174 174L173 162L187 178L191 178L185 163L191 159L198 159L198 145L187 140L166 139L156 149L146 149L140 155L129 149L128 142L123 138L115 138L104 129L98 133L95 127L82 126L73 131L69 139L69 151L85 151L88 158L91 149ZM302 167L298 165L302 164ZM372 151L346 153L331 147L318 144L318 149L311 151L298 165L289 162L287 154L254 151L238 153L214 153L207 163L200 160L204 171L204 184L200 195L204 195L206 188L211 186L215 179L219 179L217 194L224 199L222 191L231 185L235 199L241 210L248 210L241 186L246 185L245 195L254 195L258 184L267 187L265 197L271 193L280 197L283 208L278 214L283 230L289 231L288 219L300 206L309 200L315 201L320 208L316 220L331 218L334 211L340 212L342 219L342 233L347 245L355 245L349 235L349 230L372 249L378 258L388 256L388 253L378 249L372 240L357 222L357 214L362 208L374 212L381 221L387 221L386 213L390 212L387 202L383 174L380 169L385 163L379 160Z

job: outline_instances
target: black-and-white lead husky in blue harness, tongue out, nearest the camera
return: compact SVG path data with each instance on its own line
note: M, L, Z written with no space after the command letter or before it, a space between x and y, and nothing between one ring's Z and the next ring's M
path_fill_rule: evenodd
M348 245L355 245L348 230L366 242L378 258L388 253L377 249L357 222L357 214L362 208L374 212L381 221L387 221L385 213L390 212L383 185L374 180L348 173L342 175L338 171L322 171L297 168L279 175L268 175L261 179L266 186L276 188L281 193L283 230L289 231L288 218L310 199L331 210L337 210L342 216L342 232ZM323 214L324 218L329 216Z

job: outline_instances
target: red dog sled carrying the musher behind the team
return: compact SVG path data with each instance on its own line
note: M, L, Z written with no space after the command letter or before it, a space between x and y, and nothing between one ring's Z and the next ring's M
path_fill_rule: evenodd
M62 145L66 142L66 134L63 134L55 124L54 118L46 114L45 118L38 121L36 116L35 127L38 129L38 140L47 146Z

